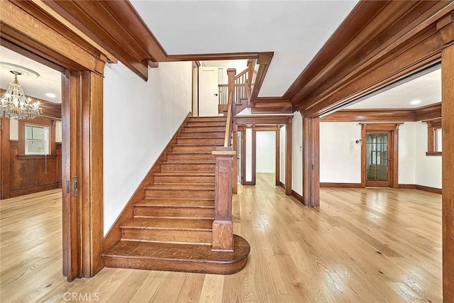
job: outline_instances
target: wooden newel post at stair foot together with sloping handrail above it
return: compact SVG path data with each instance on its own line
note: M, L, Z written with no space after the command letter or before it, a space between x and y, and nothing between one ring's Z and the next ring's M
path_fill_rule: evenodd
M235 73L234 68L227 70L228 74L228 111L226 119L226 135L224 145L213 150L216 158L215 189L214 189L214 221L211 250L233 251L233 221L232 221L232 179L233 156L236 151L232 147L233 116L235 111Z

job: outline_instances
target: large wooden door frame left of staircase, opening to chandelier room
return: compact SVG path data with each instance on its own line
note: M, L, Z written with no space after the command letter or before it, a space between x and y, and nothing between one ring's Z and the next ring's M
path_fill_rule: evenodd
M109 53L74 35L73 27L62 29L65 21L48 7L10 1L3 5L2 45L7 42L23 55L33 52L34 60L67 70L62 83L62 271L70 281L92 277L104 267L102 75ZM28 26L31 23L34 26ZM109 60L116 62L111 56ZM66 192L67 182L71 184L75 176L77 197L72 186Z

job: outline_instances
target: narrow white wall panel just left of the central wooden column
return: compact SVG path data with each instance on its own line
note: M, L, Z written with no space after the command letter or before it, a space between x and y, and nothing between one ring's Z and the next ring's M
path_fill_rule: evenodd
M303 117L299 111L292 121L292 190L303 195Z

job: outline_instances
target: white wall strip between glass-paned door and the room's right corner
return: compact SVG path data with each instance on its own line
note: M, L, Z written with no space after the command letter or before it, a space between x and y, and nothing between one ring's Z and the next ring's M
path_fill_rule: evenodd
M416 184L416 123L421 122L405 122L399 126L399 184Z

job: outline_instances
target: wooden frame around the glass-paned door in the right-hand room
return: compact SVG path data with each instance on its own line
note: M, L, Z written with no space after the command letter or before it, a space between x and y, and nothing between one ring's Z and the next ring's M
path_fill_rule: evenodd
M389 132L391 136L388 138L388 144L391 152L391 174L389 187L399 188L399 126L402 123L360 123L361 124L361 187L366 187L366 133L374 131L377 133ZM388 155L389 156L389 155Z

